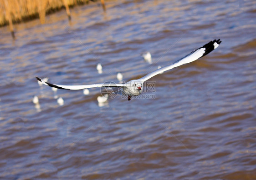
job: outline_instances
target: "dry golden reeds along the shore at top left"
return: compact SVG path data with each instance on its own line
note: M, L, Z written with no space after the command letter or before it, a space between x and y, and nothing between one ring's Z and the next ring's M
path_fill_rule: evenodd
M10 25L10 32L13 38L13 24L29 20L40 19L41 24L45 23L45 16L66 9L67 17L71 20L69 7L88 4L89 1L99 0L0 0L0 27ZM100 0L105 11L104 0Z

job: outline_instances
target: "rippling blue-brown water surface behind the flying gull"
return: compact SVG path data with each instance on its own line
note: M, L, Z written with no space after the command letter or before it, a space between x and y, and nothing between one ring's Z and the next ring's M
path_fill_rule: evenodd
M106 5L15 25L16 40L0 29L0 179L256 179L256 1ZM154 98L99 106L99 88L54 92L35 79L136 79L218 38L209 55L150 79Z

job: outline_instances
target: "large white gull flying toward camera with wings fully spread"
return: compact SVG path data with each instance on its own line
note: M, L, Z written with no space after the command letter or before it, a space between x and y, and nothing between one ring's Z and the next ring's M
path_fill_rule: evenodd
M132 96L140 95L143 92L143 83L154 77L155 75L161 74L164 71L171 70L175 67L178 67L183 64L187 64L190 62L193 62L195 60L198 60L199 58L209 54L212 50L216 49L221 43L221 40L212 40L209 43L203 45L202 47L193 50L188 55L184 56L183 58L175 61L171 65L164 66L162 68L159 68L158 70L155 70L148 75L145 75L144 77L138 79L138 80L130 80L123 84L116 84L116 83L99 83L99 84L93 84L93 85L56 85L48 83L38 77L36 77L37 80L39 80L42 84L48 85L54 88L62 89L62 90L82 90L86 88L95 88L95 87L105 87L105 88L113 88L113 87L119 87L120 90L113 92L116 94L123 94L125 96L128 96L128 100L131 100Z

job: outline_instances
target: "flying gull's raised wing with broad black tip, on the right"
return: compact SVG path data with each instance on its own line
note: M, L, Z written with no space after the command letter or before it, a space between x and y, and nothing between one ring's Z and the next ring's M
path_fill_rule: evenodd
M174 67L198 60L199 58L210 53L212 50L216 49L220 45L220 43L221 43L220 39L210 41L209 43L203 45L202 47L200 47L196 50L193 50L190 54L186 55L185 57L175 61L173 64L167 65L158 70L155 70L152 73L149 73L148 75L145 75L144 77L142 77L138 80L144 82L144 81L152 78L153 76L158 75L159 73L162 73L166 70L170 70L170 69L173 69Z

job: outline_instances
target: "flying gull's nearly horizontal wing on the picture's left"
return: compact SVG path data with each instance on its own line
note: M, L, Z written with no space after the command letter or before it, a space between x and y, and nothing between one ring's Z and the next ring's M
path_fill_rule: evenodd
M85 88L94 88L94 87L123 87L125 84L115 84L115 83L100 83L94 85L55 85L36 77L37 80L41 81L44 85L55 87L62 90L82 90Z

